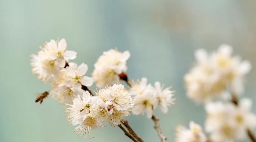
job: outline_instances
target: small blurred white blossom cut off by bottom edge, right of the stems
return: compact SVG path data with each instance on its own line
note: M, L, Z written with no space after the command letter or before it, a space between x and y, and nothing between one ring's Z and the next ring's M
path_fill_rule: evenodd
M205 133L202 127L190 121L189 129L184 126L176 128L176 138L174 142L207 142Z

